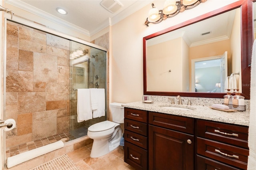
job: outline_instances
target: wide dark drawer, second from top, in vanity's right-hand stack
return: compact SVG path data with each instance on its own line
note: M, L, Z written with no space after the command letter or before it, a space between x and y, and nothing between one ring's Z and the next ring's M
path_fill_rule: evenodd
M246 170L249 150L197 137L197 154Z

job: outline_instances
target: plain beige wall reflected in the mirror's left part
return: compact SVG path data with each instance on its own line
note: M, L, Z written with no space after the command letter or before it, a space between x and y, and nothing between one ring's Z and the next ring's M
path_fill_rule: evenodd
M182 38L147 48L148 91L182 91L182 86L173 81L182 81L183 57L177 57L181 55Z

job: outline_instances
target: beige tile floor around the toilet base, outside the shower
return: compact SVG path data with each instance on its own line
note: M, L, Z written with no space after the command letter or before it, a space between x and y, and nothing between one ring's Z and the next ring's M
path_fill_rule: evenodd
M80 170L135 170L135 168L124 162L123 146L119 146L112 152L98 158L90 157L91 149L92 144L89 144L69 152L67 155Z

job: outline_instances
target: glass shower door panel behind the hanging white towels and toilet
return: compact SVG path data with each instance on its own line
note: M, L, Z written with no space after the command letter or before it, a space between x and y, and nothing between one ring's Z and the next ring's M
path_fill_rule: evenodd
M70 133L72 140L86 136L90 125L106 120L106 116L80 123L77 120L77 89L103 88L106 94L106 51L74 41L70 43Z

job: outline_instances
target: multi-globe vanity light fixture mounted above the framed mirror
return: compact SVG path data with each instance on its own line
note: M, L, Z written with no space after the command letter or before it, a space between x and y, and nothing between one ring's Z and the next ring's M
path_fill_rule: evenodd
M167 18L176 16L179 12L194 8L201 2L203 3L206 1L207 0L166 0L162 10L158 10L154 6L154 3L152 3L152 9L148 12L148 18L145 21L145 25L148 26L149 23L158 24Z

